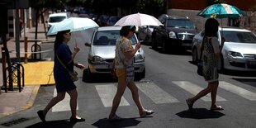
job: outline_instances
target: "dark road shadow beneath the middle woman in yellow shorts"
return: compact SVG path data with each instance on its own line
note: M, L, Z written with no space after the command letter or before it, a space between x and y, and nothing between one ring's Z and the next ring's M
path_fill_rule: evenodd
M107 118L100 119L92 124L92 126L100 128L109 127L129 127L137 126L141 121L136 120L136 118L124 118L122 121L108 121Z

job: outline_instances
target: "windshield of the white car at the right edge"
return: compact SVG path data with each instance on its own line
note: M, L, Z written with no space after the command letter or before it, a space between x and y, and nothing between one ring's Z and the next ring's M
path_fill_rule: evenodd
M225 38L225 42L254 43L256 44L256 36L248 31L220 31Z

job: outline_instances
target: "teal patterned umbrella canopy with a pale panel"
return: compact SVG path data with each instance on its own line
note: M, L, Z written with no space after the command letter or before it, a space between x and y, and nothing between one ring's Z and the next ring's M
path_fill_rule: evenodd
M238 7L225 3L217 3L201 10L201 12L197 13L197 16L214 18L235 18L245 16L245 14Z

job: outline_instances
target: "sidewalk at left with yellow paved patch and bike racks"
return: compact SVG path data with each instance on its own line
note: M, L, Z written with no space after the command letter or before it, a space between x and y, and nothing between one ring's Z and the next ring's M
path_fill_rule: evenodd
M43 24L38 25L38 34L37 34L37 44L41 43L53 43L55 37L48 37L46 39L44 32ZM31 55L31 45L35 44L35 35L36 28L32 27L31 29L26 29L26 37L28 37L28 47L27 52L28 56ZM53 78L53 61L33 61L24 64L22 61L24 59L24 33L21 34L20 38L20 58L21 64L24 67L24 88L19 92L14 89L14 91L4 92L0 90L0 118L4 116L11 115L14 112L26 110L33 106L33 103L36 99L37 92L40 88L40 85L54 85L55 81ZM3 47L3 45L0 45ZM7 48L9 50L10 59L13 62L17 61L16 56L16 42L15 38L7 41ZM2 59L2 52L0 52L0 58ZM2 82L2 62L1 73L0 73L0 86L3 85ZM14 83L13 87L17 87L17 84Z

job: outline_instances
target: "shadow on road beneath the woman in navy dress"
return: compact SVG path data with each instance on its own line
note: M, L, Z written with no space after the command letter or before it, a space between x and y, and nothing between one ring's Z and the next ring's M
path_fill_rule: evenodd
M70 122L69 120L58 120L58 121L46 121L46 122L38 122L31 126L26 126L26 128L57 128L57 127L65 127L72 128L75 123Z

